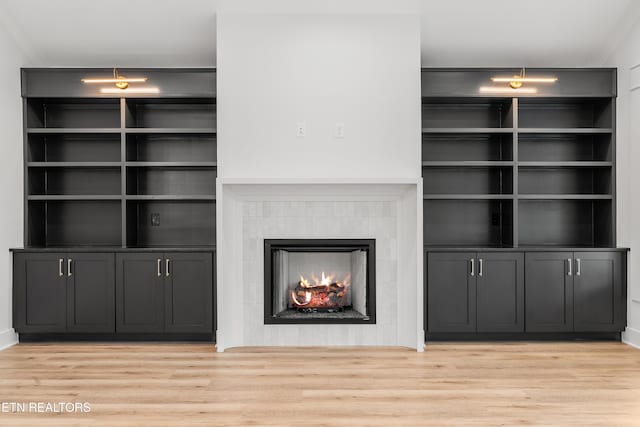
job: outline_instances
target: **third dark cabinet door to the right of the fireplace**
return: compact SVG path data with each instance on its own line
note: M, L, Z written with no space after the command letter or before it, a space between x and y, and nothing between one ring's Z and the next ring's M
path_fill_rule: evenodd
M573 253L530 252L525 259L526 331L572 332Z

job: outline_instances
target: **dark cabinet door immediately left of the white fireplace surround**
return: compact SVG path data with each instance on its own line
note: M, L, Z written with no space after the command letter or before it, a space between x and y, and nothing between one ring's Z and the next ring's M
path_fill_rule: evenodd
M213 263L210 253L165 254L166 332L211 333Z

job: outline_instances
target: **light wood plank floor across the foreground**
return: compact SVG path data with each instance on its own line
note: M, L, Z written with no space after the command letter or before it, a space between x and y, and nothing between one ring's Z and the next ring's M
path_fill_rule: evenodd
M620 343L252 348L20 344L0 401L83 402L89 414L3 425L640 426L640 350Z

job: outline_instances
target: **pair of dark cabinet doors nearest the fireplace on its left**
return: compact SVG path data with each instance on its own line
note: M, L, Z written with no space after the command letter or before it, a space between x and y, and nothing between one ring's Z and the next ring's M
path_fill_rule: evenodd
M213 332L211 253L123 253L116 260L118 332Z

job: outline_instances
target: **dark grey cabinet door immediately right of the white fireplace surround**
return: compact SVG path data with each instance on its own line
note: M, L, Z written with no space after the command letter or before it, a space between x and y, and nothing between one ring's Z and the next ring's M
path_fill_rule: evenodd
M427 259L429 332L475 332L475 253L433 252Z

